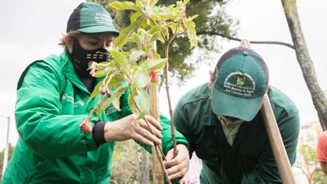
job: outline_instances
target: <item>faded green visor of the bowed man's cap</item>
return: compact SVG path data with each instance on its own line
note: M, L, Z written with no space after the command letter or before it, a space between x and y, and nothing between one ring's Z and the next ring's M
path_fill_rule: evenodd
M257 115L263 97L239 98L213 88L211 106L215 114L250 121Z

